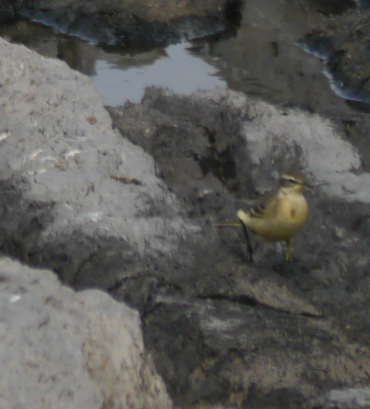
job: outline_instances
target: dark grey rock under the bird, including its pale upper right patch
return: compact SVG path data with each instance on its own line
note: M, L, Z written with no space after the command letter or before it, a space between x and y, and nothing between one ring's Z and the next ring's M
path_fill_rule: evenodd
M223 89L187 97L149 88L141 104L110 112L122 135L153 155L204 234L183 239L194 243L194 261L167 272L157 291L151 283L144 305L144 339L175 403L300 407L323 389L367 382L370 260L354 219L368 208L360 180L369 174L336 126ZM219 171L225 160L233 176ZM295 238L299 261L279 261L262 243L251 266L241 234L215 231L214 220L235 218L240 196L260 196L291 165L319 185L309 225ZM197 193L207 186L210 202ZM364 203L354 206L354 198ZM113 293L127 299L149 285L142 277Z

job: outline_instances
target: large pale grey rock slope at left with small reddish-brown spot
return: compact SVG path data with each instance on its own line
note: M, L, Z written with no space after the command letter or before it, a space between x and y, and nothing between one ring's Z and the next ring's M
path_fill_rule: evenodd
M160 255L178 247L184 223L177 199L156 177L153 158L112 130L86 76L2 39L0 53L5 251L47 265L47 248L58 243L53 265L79 288L114 285L122 277L122 258L132 274L138 268L133 261L141 259L142 268L147 258L160 263ZM115 267L102 275L109 263ZM95 273L86 275L91 268Z

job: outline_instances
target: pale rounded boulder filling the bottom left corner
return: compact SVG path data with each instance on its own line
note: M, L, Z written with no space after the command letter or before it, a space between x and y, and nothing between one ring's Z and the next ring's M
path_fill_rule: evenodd
M0 407L172 407L138 312L0 258Z

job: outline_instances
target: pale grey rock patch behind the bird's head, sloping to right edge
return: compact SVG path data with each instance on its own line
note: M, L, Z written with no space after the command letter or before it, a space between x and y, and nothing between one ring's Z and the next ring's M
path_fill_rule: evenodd
M361 172L360 153L329 119L226 89L198 92L194 98L228 104L237 112L242 138L237 145L239 177L252 178L258 191L270 190L281 172L296 166L329 196L370 202L370 173Z

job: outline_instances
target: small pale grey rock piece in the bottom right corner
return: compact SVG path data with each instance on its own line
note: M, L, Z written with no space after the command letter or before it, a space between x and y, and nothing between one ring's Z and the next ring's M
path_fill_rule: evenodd
M368 409L370 408L369 389L342 389L330 391L309 402L307 408L329 409Z

